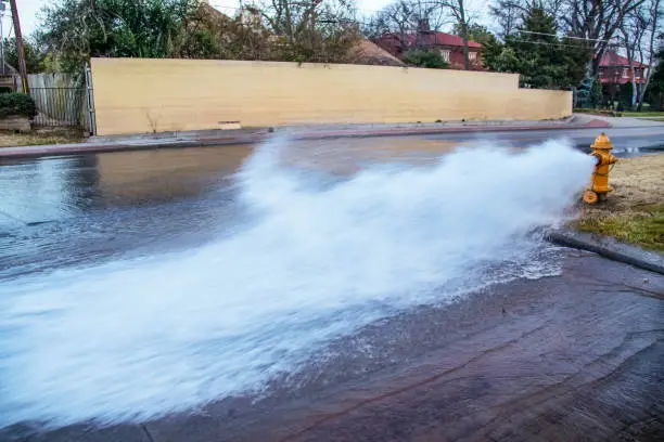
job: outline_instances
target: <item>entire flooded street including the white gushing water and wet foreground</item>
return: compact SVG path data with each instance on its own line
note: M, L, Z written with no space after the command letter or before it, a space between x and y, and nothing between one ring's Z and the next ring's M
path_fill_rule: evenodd
M0 440L659 440L664 278L532 234L586 158L456 144L5 162Z

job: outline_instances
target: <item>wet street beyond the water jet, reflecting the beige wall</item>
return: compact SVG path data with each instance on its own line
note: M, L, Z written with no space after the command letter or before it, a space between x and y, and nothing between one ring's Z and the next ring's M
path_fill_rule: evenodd
M294 143L285 161L335 177L369 162L431 161L457 144L408 138ZM233 173L252 150L0 160L0 277L190 247L221 234L237 216Z

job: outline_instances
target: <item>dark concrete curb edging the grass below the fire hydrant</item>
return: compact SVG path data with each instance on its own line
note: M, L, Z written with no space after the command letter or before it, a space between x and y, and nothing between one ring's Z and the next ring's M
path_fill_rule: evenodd
M547 239L559 246L592 251L613 261L664 275L664 255L620 243L609 236L563 229L549 232Z

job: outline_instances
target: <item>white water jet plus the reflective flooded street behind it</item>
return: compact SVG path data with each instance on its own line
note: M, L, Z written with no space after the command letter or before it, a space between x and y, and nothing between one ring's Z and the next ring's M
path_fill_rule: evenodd
M538 229L592 167L559 142L335 143L0 168L0 427L190 410L381 317L553 274Z

